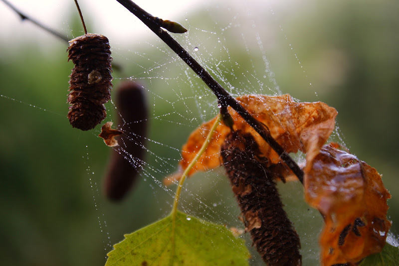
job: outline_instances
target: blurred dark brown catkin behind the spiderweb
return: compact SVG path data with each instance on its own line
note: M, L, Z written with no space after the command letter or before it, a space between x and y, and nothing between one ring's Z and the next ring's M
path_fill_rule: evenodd
M132 188L139 176L145 155L148 107L145 90L133 81L121 83L116 91L118 124L124 132L119 137L123 153L112 150L109 166L104 178L105 195L120 201ZM131 156L129 159L125 156ZM131 162L133 160L133 162Z

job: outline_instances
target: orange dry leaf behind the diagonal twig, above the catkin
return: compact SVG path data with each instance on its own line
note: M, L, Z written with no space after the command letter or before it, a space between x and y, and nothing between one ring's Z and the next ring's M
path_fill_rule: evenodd
M263 123L271 135L287 152L307 152L320 148L334 130L337 111L328 105L316 103L296 103L288 94L280 96L244 95L236 98L238 102L258 121ZM228 112L234 121L234 130L250 133L259 144L261 156L268 158L270 165L281 162L277 153L231 108ZM202 124L191 133L182 148L180 168L186 169L196 156L214 120ZM210 140L209 146L202 154L189 175L217 167L221 163L220 147L230 133L230 129L220 124ZM291 171L285 170L284 175ZM291 173L292 174L292 173ZM165 183L179 179L181 174L170 176Z

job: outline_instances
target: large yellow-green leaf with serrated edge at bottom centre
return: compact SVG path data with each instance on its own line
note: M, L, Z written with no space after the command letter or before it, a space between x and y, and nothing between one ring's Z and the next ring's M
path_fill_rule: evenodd
M172 216L169 215L125 235L125 240L108 253L105 266L248 265L250 255L244 241L235 238L224 226L178 212L175 256L172 232Z

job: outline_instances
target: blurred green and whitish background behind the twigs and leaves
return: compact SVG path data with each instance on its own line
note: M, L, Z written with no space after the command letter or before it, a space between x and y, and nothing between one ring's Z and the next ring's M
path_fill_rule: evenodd
M73 1L56 2L13 1L26 14L69 38L81 35ZM152 32L120 4L111 2L82 1L86 24L89 31L110 39L114 62L121 67L114 71L114 88L133 78L148 89L148 137L164 144L151 142L148 148L174 165L179 152L165 147L179 149L196 126L216 114L214 97ZM336 139L341 137L339 141L351 152L383 174L392 194L392 232L399 234L398 2L137 3L154 15L188 27L188 36L174 36L233 94L280 90L300 101L323 101L335 107L339 112ZM143 174L125 201L108 202L102 194L102 178L110 148L97 137L99 127L80 132L66 118L72 68L66 62L67 44L29 21L22 22L2 2L0 15L1 264L104 265L110 244L168 214L175 188L165 189L154 179L162 181L173 167L148 156L148 165L161 173L147 171L150 176ZM198 54L194 47L199 48ZM214 62L222 62L224 74ZM250 81L252 68L272 72L264 86L271 90L259 89L256 80ZM187 76L191 82L167 79L170 76ZM239 86L245 89L235 91ZM183 96L177 99L179 93ZM188 107L198 95L204 98L202 105L194 102ZM115 119L112 103L107 109L107 121ZM189 114L193 110L197 113ZM170 118L174 123L157 119L170 113L176 115ZM184 114L181 124L179 114ZM195 118L192 124L187 123L190 116ZM183 208L203 219L239 226L239 212L222 173L219 169L188 180ZM318 265L320 217L298 200L300 185L279 187L301 235L304 265ZM261 265L256 256L251 264Z

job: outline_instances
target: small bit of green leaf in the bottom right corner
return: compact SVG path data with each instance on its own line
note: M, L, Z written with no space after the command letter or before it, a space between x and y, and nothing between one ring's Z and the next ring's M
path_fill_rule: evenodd
M399 249L387 243L382 252L370 255L359 266L399 266Z

